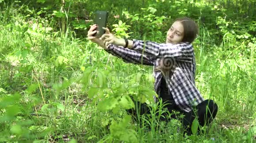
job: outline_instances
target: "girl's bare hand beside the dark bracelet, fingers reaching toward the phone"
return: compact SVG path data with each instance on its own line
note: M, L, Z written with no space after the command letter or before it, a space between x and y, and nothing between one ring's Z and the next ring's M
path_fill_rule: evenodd
M106 47L109 46L109 44L114 44L116 46L124 46L125 45L125 40L124 39L118 39L117 37L113 36L109 32L109 29L103 28L106 31L106 34L103 34L102 37L100 38L103 40L103 43Z

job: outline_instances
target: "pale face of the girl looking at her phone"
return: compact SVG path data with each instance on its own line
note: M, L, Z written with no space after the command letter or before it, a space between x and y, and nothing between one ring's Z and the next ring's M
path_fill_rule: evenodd
M167 32L166 43L177 44L183 39L184 28L180 21L175 21Z

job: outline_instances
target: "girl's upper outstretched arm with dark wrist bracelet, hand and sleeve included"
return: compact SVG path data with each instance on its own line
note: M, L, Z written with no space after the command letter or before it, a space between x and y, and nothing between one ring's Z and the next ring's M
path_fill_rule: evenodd
M191 43L156 43L151 41L143 40L125 40L122 38L117 38L112 34L103 34L100 39L103 39L105 46L109 44L114 44L116 46L125 46L129 49L135 50L139 53L146 54L147 57L152 60L158 58L172 57L175 59L182 59L186 61L191 61L194 56L194 50Z

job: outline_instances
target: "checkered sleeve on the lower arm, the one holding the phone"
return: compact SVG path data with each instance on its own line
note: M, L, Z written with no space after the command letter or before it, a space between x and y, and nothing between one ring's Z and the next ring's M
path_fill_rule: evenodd
M127 63L144 64L151 66L154 65L154 61L151 58L149 58L146 54L141 54L135 50L130 50L122 46L110 44L108 49L105 51L112 54L113 56L121 58L123 61Z

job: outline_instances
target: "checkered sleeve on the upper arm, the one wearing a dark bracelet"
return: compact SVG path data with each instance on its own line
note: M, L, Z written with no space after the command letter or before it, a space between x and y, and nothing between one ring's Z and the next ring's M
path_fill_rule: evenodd
M173 57L191 61L194 54L192 44L188 42L166 44L133 39L132 50L136 50L139 53L143 52L153 59Z

